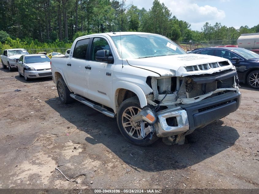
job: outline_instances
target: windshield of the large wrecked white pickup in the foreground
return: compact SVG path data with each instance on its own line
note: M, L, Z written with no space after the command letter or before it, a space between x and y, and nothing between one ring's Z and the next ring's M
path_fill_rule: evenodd
M122 59L186 54L174 42L160 35L131 34L112 36L112 40Z

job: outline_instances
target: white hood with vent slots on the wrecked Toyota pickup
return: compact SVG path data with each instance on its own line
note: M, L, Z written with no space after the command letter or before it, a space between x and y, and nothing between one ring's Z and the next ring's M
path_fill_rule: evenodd
M232 63L224 58L200 55L200 54L183 54L183 55L168 55L160 57L149 57L141 59L127 59L128 64L134 67L150 70L160 74L161 76L187 76L198 74L212 74L227 69L234 69ZM229 65L217 68L209 68L208 70L196 70L187 72L185 67L195 66L200 64L215 63L227 61Z

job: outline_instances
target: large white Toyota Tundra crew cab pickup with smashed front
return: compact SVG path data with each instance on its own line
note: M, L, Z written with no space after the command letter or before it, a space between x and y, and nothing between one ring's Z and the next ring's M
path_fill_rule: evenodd
M185 135L237 110L241 94L227 59L186 54L164 36L111 32L77 38L68 57L51 59L60 101L72 98L116 117L131 143ZM101 120L99 122L102 122Z

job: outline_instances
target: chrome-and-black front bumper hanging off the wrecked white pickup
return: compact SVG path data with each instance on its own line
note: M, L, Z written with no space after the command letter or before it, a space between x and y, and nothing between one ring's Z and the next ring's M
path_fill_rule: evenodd
M178 109L166 109L158 112L158 121L154 124L158 137L169 137L194 129L204 127L221 119L238 109L241 102L240 92L227 92L199 102L184 104ZM168 118L175 117L177 122L173 126L168 124Z

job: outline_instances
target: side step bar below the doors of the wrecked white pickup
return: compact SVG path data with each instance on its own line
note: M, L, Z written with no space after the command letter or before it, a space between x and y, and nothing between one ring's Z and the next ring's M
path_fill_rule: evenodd
M83 104L93 108L94 110L97 110L98 112L101 112L103 113L104 115L106 116L109 116L109 117L112 117L112 118L115 118L116 117L116 114L114 112L110 112L109 110L107 110L106 108L103 108L99 105L95 105L89 101L87 101L85 98L77 95L77 94L70 94L70 96L72 98L74 98L75 100L79 101L79 102L82 102Z

